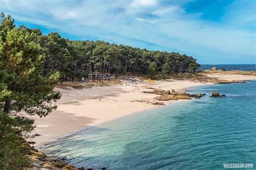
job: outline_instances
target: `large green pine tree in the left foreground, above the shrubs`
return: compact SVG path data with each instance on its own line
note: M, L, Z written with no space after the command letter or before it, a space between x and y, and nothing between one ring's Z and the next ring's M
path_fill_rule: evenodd
M2 15L0 30L0 111L46 116L60 97L52 91L59 73L43 75L45 56L35 32L11 25ZM9 18L9 19L8 19Z

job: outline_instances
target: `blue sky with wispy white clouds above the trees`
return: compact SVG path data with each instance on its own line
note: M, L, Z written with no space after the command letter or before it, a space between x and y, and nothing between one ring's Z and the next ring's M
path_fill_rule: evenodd
M201 64L256 63L255 0L0 0L0 11L70 40L174 51Z

